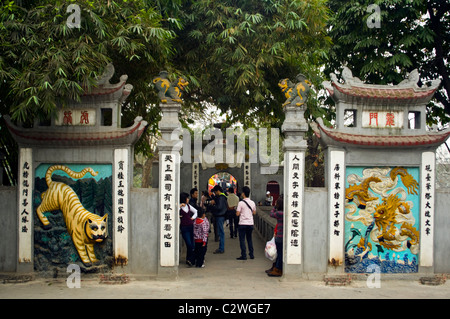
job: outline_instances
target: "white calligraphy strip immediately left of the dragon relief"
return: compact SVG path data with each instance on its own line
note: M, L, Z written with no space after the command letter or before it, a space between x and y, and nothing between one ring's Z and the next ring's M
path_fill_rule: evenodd
M344 260L345 152L330 151L328 166L329 262Z

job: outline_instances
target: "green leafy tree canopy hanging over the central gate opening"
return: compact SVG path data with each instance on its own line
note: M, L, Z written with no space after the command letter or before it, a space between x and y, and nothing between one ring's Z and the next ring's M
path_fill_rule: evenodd
M321 83L328 14L323 0L186 1L174 62L194 84L189 101L231 110L231 122L280 122L280 79Z

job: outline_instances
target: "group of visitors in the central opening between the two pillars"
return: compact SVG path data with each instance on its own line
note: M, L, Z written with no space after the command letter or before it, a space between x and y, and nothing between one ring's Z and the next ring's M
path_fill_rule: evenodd
M190 194L180 194L180 231L186 244L186 264L195 267L205 267L205 254L207 251L208 237L211 226L214 228L215 240L219 241L219 247L214 254L225 252L224 223L228 220L230 238L236 238L239 234L241 254L237 260L254 259L253 250L253 216L256 214L256 204L250 199L250 188L244 186L242 193L236 195L233 187L226 193L221 186L216 185L210 195L207 191L198 199L197 188L193 188ZM277 219L275 228L275 244L277 251L282 251L283 244L283 200L280 197L274 206L271 217ZM211 221L211 222L210 222ZM282 254L278 254L272 267L266 270L269 276L281 276Z

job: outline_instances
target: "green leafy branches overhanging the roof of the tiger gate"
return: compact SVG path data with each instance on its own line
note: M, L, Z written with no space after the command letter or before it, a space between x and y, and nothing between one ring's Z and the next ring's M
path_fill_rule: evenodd
M0 6L0 110L46 118L95 85L108 62L139 83L167 63L175 34L150 1L7 1ZM80 8L70 27L70 4ZM146 70L142 72L142 70ZM130 73L130 72L127 72ZM119 75L120 76L120 75Z

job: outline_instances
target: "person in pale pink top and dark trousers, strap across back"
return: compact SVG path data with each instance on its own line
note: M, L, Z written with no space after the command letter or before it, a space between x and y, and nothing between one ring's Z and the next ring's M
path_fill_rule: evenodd
M245 239L247 239L248 254L250 259L255 258L253 254L253 215L256 214L256 204L250 198L250 188L244 186L242 188L242 200L239 202L236 208L236 216L239 217L239 244L241 246L241 256L236 258L238 260L247 259L247 250L245 246Z

